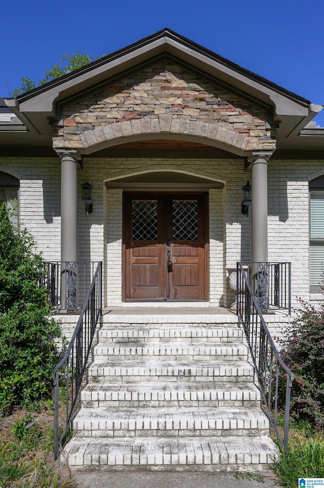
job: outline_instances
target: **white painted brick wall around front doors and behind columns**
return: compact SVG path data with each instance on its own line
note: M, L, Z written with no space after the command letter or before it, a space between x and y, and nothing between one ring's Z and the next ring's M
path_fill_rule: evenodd
M250 178L240 160L85 158L78 171L79 259L104 261L109 305L121 304L122 191L104 182L144 171L173 170L214 178L224 189L210 191L210 304L229 306L226 266L250 257L251 219L240 213L241 187ZM20 179L20 220L35 237L45 259L60 259L59 159L0 159L0 171ZM309 298L308 181L324 173L321 161L268 164L268 239L270 261L292 261L292 295ZM93 184L94 212L86 216L80 200L85 181Z

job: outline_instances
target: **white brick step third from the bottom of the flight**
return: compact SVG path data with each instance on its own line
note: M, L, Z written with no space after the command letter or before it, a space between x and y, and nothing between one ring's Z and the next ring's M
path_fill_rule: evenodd
M260 391L245 383L149 383L148 385L88 384L81 392L82 404L88 408L108 407L197 407L245 406L260 402Z

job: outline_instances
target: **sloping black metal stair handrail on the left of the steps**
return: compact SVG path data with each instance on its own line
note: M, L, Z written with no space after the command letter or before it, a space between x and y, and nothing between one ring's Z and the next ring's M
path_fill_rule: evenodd
M54 386L54 454L57 459L59 448L64 444L78 409L79 394L91 351L93 337L102 313L102 262L98 263L88 295L80 313L70 344L53 370ZM65 426L59 432L59 394L64 382L66 395Z

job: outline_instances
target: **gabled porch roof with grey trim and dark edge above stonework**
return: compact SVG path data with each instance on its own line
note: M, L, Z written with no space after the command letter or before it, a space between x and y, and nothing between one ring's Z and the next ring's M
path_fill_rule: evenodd
M13 135L13 132L16 132L13 130L14 127L11 125L10 129L8 126L12 136L9 135L7 143L51 144L52 131L49 120L59 120L60 104L109 81L121 79L159 59L171 60L191 72L196 72L207 81L217 83L233 93L255 101L256 104L268 107L272 112L273 127L279 127L277 139L279 146L281 144L283 148L299 147L299 142L294 142L292 138L297 136L322 108L321 105L314 105L305 98L165 28L61 78L30 90L16 99L5 99L7 106L25 128L25 134L20 130L17 138L17 134ZM0 137L4 129L5 126L0 121ZM289 143L287 138L290 139ZM306 138L305 135L303 146Z

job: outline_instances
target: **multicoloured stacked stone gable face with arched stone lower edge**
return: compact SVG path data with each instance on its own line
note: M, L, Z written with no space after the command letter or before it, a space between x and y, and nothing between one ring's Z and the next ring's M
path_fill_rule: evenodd
M67 101L60 110L55 149L91 154L99 146L146 137L187 138L241 156L275 149L264 106L257 107L230 88L217 86L217 80L212 84L168 61L94 88L93 94Z

